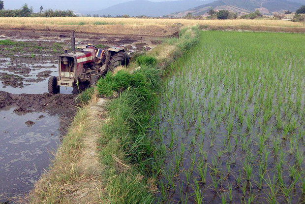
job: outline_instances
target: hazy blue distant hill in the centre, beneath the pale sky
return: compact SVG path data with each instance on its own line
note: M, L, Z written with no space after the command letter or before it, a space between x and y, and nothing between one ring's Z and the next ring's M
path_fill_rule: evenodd
M114 6L110 6L106 9L95 11L82 11L86 14L98 14L98 15L129 15L129 16L163 16L169 13L178 12L181 10L189 9L195 6L203 4L202 0L176 0L176 1L161 1L152 2L149 0L132 0L124 3L119 3ZM206 1L211 2L211 1Z

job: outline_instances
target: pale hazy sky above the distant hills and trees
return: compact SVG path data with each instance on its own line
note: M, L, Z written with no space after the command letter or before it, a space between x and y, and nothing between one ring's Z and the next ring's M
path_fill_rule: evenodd
M122 3L129 0L3 0L5 9L20 8L23 4L28 3L32 6L34 11L39 11L40 5L45 9L71 9L74 11L84 10L99 10L107 8L111 5ZM151 0L164 1L164 0Z

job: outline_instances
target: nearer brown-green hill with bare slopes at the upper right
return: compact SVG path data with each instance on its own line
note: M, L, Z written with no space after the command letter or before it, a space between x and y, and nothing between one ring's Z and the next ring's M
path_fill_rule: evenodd
M263 14L272 14L283 10L295 11L304 0L216 0L212 3L203 4L182 12L175 13L175 16L185 16L187 13L203 15L210 9L227 9L238 13L249 13L259 9ZM305 1L304 1L305 3Z

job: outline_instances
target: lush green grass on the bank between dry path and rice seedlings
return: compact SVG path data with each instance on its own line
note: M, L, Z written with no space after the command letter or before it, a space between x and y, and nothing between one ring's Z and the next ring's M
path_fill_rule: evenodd
M97 83L102 96L124 90L107 105L110 120L100 131L101 163L106 167L103 174L110 178L105 199L111 203L145 204L154 200L153 183L147 174L152 174L156 149L148 131L159 80L160 70L142 67L132 74L122 70L115 75L108 73ZM118 169L117 161L126 170Z

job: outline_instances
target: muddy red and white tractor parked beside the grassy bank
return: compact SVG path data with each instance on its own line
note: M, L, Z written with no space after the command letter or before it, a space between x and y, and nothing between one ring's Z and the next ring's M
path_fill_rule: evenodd
M60 93L60 86L74 87L84 82L94 85L108 71L129 63L130 57L123 46L98 49L89 44L76 51L74 31L71 44L71 52L68 53L68 49L64 48L64 54L59 56L59 76L49 78L48 91L51 94Z

